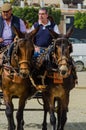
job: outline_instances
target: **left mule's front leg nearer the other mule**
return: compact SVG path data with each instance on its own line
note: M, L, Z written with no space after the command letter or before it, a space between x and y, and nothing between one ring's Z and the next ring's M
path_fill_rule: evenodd
M16 114L16 119L17 119L17 130L24 130L24 120L23 120L23 111L25 107L25 101L26 99L21 98L19 99L19 108Z

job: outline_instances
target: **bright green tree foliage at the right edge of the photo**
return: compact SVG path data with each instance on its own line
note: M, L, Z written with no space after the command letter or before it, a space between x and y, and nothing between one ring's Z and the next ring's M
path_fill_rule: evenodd
M74 25L76 28L86 28L86 12L80 12L78 11L74 15Z

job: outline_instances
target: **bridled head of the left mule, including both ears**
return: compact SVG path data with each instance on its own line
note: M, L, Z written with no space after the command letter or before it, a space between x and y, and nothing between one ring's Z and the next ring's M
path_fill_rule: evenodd
M34 53L33 39L38 29L31 33L21 33L13 27L17 39L14 43L14 48L11 56L11 66L18 68L18 73L23 78L30 74L31 60Z

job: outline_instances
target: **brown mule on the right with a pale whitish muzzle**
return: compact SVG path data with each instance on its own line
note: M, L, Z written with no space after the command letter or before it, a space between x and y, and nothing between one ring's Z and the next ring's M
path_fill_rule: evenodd
M33 72L35 80L42 84L46 84L46 90L42 93L44 102L44 120L42 130L47 130L47 112L50 113L50 122L53 130L64 130L64 125L67 120L67 111L69 104L70 90L75 87L75 79L73 77L73 64L70 57L72 45L68 38L72 33L70 28L66 35L59 35L50 30L50 33L55 40L53 44L38 58L41 62L48 53L49 60L45 61L39 68L39 71ZM43 58L42 58L43 57ZM57 107L55 104L57 103ZM58 125L56 126L57 113Z

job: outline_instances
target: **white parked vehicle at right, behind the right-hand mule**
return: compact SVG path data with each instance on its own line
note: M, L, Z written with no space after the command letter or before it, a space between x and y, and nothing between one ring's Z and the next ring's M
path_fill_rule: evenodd
M73 57L77 71L82 71L86 68L86 39L69 38L73 46Z

